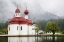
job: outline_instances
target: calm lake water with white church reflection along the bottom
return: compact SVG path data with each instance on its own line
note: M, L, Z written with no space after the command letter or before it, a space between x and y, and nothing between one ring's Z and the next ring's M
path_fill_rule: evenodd
M0 42L64 42L64 37L0 37Z

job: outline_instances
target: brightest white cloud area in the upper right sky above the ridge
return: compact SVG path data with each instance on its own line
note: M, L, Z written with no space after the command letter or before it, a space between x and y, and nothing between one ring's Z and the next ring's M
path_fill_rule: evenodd
M43 10L64 16L64 0L38 0Z

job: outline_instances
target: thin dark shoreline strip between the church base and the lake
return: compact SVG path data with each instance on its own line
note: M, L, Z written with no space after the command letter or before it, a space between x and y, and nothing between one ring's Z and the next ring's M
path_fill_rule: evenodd
M0 35L0 37L50 37L53 35ZM64 35L54 35L56 37L64 37Z

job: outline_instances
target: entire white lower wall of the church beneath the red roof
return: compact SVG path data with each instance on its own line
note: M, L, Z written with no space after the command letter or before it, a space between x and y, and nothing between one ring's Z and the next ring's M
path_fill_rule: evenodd
M35 35L35 30L33 30L34 28L34 26L28 26L27 24L10 24L8 25L8 35Z

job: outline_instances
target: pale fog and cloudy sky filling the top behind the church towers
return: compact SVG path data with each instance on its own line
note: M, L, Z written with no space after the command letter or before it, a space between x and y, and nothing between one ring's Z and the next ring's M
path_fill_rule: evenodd
M0 19L5 21L12 18L17 6L23 17L26 6L30 18L38 17L45 12L64 16L64 0L0 0Z

